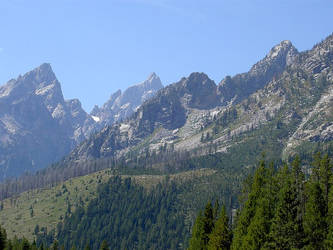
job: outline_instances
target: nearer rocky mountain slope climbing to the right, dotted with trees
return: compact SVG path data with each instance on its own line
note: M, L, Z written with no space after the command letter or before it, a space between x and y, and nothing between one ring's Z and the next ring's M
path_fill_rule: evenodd
M227 77L218 86L203 73L167 86L130 120L103 129L67 159L140 155L165 146L180 151L200 149L201 154L212 148L228 152L251 140L259 143L259 135L266 139L257 150L273 146L277 155L282 154L302 119L316 110L320 98L327 99L323 95L330 96L331 85L332 36L301 53L283 41L249 72ZM327 141L331 140L332 120L331 103L325 103L325 122L316 125L324 129L316 138Z

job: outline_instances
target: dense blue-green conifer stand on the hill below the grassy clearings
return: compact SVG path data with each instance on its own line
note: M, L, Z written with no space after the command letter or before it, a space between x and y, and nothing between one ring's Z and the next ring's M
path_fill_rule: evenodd
M111 178L87 209L77 208L65 219L57 239L66 249L99 249L104 240L111 249L176 248L188 233L175 208L177 193L172 183L147 192L131 179Z

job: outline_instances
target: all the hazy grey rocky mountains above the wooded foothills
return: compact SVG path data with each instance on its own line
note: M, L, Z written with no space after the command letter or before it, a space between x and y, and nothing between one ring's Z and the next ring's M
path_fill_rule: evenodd
M50 65L43 64L0 88L1 178L46 167L72 149L66 161L161 148L228 153L250 143L262 150L271 142L288 157L307 143L329 142L332 40L305 52L282 41L249 72L218 85L192 73L162 88L152 74L90 115L78 100L64 100ZM259 143L255 134L265 139Z

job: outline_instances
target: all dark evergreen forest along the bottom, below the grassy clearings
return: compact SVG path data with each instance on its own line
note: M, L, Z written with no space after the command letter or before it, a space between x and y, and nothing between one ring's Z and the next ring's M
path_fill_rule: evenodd
M0 243L16 245L7 249L331 249L332 159L316 153L310 168L303 163L299 156L282 165L262 158L244 179L237 212L224 193L230 183L223 187L211 175L166 178L150 190L114 176L56 230L35 229L36 242L6 241L2 230ZM205 182L216 186L204 191ZM206 206L192 224L186 210L195 200Z

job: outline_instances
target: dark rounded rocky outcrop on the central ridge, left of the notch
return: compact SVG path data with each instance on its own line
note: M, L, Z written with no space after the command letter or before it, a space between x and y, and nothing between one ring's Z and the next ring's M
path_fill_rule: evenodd
M161 89L141 105L128 121L103 129L77 147L69 159L121 155L157 130L173 131L184 126L193 109L206 110L220 104L214 81L204 73ZM170 136L169 132L165 133Z

